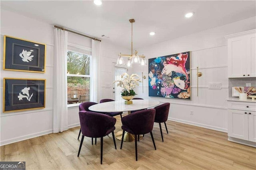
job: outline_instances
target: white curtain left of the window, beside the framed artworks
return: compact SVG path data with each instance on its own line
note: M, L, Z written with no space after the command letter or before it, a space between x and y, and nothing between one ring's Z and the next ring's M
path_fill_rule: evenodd
M67 98L68 32L54 29L53 132L68 130Z

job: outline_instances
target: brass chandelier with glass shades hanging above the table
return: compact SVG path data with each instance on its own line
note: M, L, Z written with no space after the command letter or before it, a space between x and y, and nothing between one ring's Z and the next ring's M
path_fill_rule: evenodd
M134 19L130 19L129 21L131 24L135 22ZM141 66L146 65L146 58L145 58L146 56L138 55L138 51L136 50L135 52L133 52L132 42L131 42L131 55L120 53L118 54L118 56L119 57L117 59L116 65L125 65L123 57L129 57L126 65L127 67L132 67L132 64L140 64Z

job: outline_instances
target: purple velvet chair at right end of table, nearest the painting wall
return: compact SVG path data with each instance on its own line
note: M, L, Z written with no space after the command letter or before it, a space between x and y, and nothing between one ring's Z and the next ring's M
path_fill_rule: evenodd
M162 141L164 142L161 123L164 123L165 128L166 128L166 132L168 134L166 121L168 119L170 103L164 103L162 105L159 105L159 106L155 107L154 109L156 109L156 117L155 117L154 122L159 123L160 132L161 132L161 136L162 136Z

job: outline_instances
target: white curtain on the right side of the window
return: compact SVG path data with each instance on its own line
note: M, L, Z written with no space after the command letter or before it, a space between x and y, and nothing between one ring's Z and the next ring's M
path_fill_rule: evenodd
M100 57L101 57L101 43L97 40L92 40L92 65L90 74L90 96L91 101L98 103L101 96L101 72L100 72Z

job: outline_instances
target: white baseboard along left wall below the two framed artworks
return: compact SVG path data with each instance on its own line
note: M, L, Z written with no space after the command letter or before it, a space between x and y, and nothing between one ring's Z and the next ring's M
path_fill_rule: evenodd
M14 142L19 142L19 141L22 141L22 140L27 140L27 139L30 139L30 138L35 138L35 137L42 136L42 135L45 135L45 134L50 134L50 133L53 133L53 129L45 130L45 131L38 132L38 133L32 133L32 134L28 134L28 135L24 135L24 136L19 136L17 138L2 140L0 142L0 146L6 145L6 144L11 144L11 143L14 143Z

